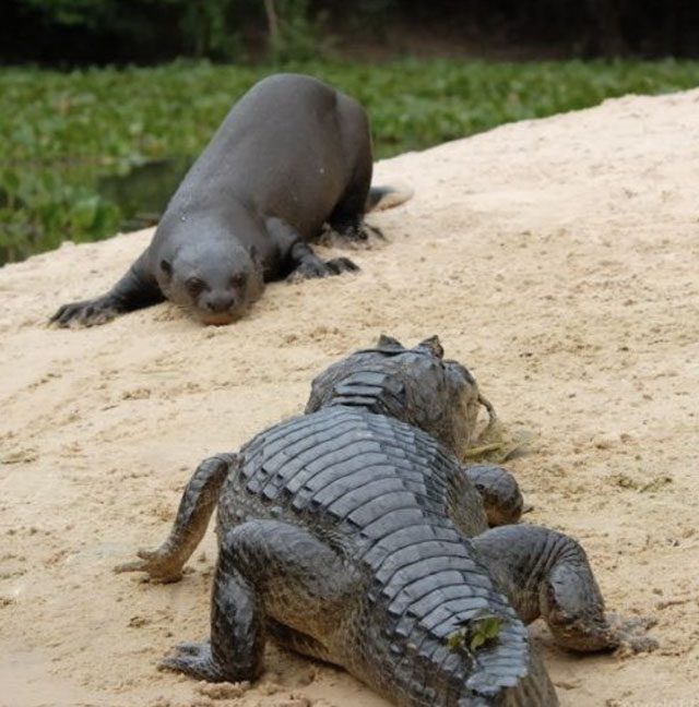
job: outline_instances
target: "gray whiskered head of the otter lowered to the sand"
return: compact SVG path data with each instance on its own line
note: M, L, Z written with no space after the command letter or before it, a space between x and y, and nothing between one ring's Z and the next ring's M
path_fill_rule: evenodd
M204 324L240 319L264 288L254 248L230 238L190 241L156 264L163 293Z

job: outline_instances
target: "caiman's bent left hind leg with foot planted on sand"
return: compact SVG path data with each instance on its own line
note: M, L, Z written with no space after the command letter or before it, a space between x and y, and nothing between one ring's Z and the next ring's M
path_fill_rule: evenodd
M330 659L322 638L341 625L352 586L341 558L307 530L276 520L236 526L221 539L211 642L182 644L162 666L210 682L254 680L268 625L286 646Z

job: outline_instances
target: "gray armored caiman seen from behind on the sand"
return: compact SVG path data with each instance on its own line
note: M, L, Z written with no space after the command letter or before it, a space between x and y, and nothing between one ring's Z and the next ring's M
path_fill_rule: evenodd
M398 705L557 705L522 620L542 615L580 650L618 636L578 543L532 526L488 530L453 453L481 400L436 337L410 350L382 337L316 379L305 416L200 465L168 539L118 568L178 579L217 503L211 640L163 664L252 680L272 636ZM517 506L502 471L473 476L506 516ZM496 638L473 652L449 647L484 615L501 621Z

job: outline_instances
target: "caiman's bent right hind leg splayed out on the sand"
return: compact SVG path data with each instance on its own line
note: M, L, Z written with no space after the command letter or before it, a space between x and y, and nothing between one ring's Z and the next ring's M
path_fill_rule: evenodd
M542 616L559 646L585 652L656 646L643 633L649 622L605 614L585 552L572 538L517 525L487 530L472 541L522 620L531 623Z

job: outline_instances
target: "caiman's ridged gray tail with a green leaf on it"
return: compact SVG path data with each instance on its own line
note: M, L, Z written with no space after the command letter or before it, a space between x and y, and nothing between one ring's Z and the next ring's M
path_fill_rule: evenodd
M437 516L415 520L364 553L374 582L355 674L408 705L555 707L526 627L471 543Z

